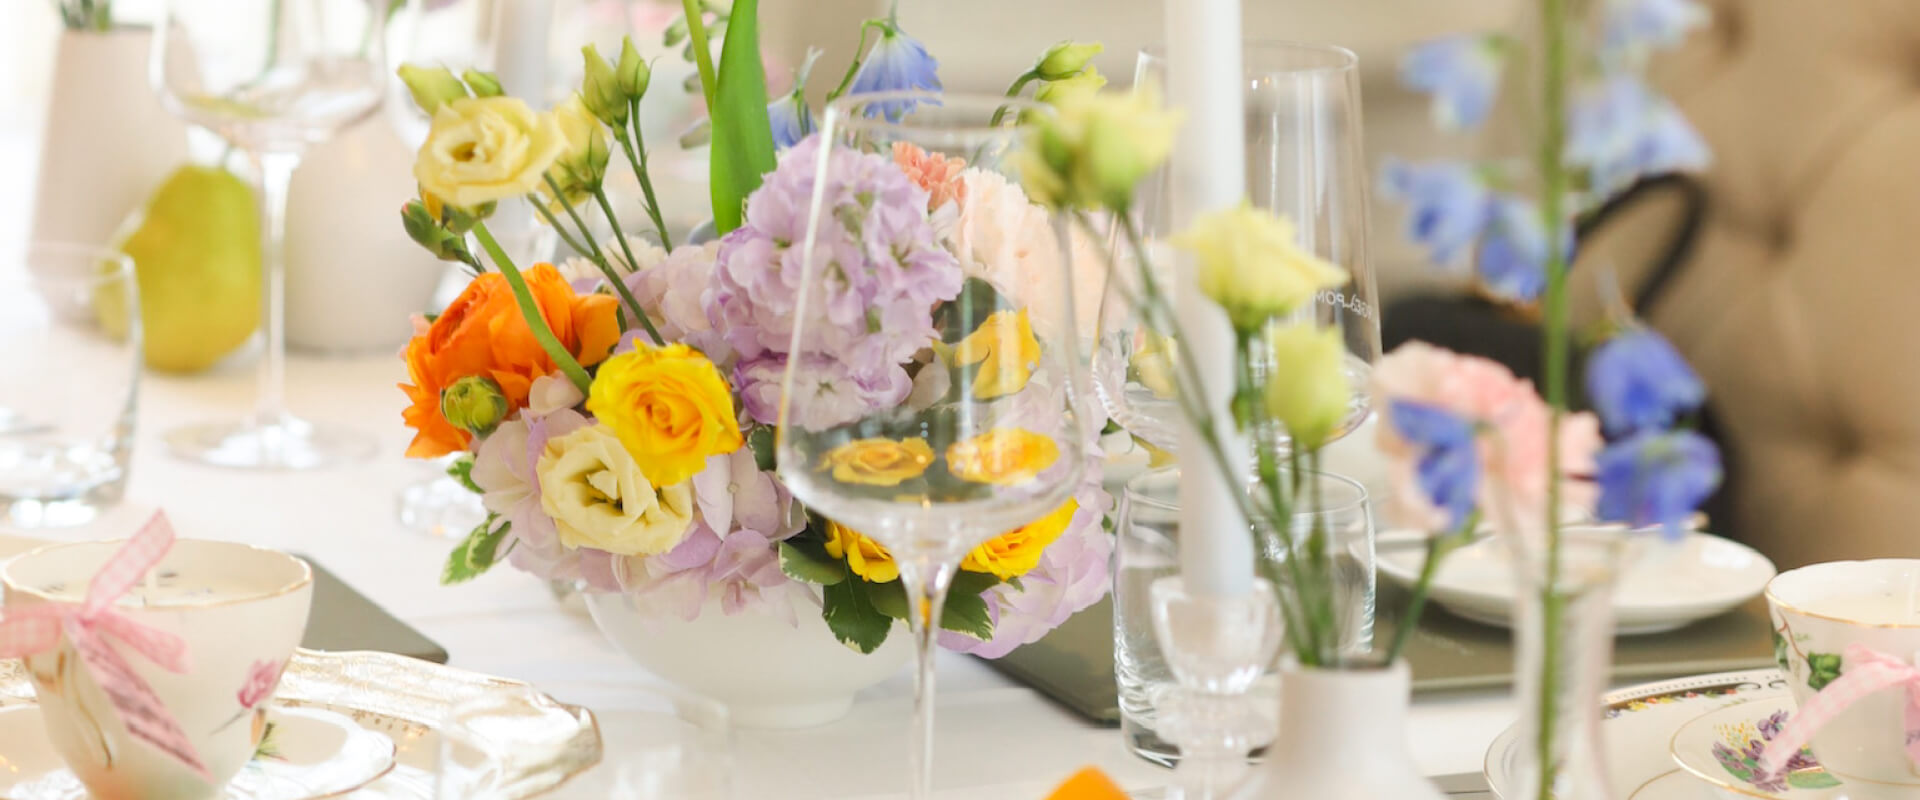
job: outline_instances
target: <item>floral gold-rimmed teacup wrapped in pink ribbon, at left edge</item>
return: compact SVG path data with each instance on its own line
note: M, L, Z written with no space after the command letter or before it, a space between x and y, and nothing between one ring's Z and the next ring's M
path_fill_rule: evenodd
M48 545L0 568L6 606L81 604L119 541ZM313 570L284 553L180 539L113 610L180 637L173 673L111 635L117 654L179 721L211 781L127 733L73 641L25 658L54 748L96 798L209 800L253 758L267 706L307 627Z

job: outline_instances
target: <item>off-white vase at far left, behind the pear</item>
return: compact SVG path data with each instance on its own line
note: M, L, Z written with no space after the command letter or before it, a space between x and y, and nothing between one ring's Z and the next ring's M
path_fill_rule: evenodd
M146 79L152 31L63 31L40 136L31 238L104 246L186 161L186 125ZM180 56L188 58L188 56Z

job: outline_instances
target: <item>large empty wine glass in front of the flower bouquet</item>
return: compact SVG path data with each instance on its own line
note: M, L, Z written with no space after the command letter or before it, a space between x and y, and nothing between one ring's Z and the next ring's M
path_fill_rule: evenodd
M931 794L933 645L960 560L1064 508L1087 470L1066 219L1027 201L1014 167L1027 134L1018 121L1039 113L1050 111L1002 96L876 92L829 104L820 134L783 355L780 478L899 564L918 654L914 798ZM895 159L937 184L935 219L952 213L943 201L952 198L950 226L900 209L897 194L872 194L870 175ZM943 180L956 159L968 173ZM920 238L889 240L899 224ZM881 299L864 301L874 280ZM941 286L941 301L927 313L912 290L885 299L904 284ZM916 391L900 391L902 380ZM864 447L918 453L918 466L899 482L831 466Z

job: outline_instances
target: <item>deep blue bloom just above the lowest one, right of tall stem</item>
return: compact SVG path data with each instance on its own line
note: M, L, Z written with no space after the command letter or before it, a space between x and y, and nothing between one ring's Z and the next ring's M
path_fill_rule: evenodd
M1586 363L1586 395L1607 434L1667 428L1707 399L1680 351L1647 328L1607 340Z

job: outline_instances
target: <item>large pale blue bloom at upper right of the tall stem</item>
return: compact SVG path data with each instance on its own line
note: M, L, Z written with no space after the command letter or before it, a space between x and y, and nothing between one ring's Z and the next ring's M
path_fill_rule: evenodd
M1703 169L1713 157L1672 102L1624 73L1584 88L1567 130L1567 161L1588 167L1601 194L1644 175Z

